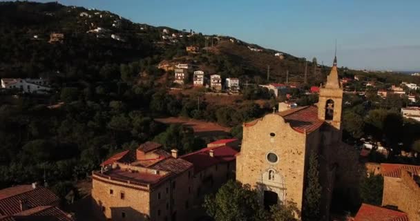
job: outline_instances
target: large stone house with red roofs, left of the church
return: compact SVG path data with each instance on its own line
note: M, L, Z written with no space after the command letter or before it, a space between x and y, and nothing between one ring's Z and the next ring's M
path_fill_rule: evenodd
M95 213L100 220L189 220L205 194L235 177L236 153L216 145L178 156L153 142L117 153L93 172Z

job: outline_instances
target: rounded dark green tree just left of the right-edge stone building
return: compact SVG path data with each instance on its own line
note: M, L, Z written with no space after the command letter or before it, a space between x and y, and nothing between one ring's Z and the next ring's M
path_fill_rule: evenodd
M363 202L380 206L382 203L383 176L368 173L362 177L360 196Z

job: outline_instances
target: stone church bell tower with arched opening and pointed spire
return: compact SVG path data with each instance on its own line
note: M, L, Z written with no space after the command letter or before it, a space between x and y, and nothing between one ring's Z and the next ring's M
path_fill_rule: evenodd
M318 119L323 119L327 124L334 126L341 131L341 110L343 105L343 87L338 80L337 57L330 75L327 76L327 83L319 90Z

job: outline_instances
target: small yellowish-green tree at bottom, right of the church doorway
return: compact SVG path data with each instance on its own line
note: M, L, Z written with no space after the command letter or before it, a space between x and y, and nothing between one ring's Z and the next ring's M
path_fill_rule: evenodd
M296 215L300 214L296 202L292 201L270 206L270 212L272 221L298 221Z

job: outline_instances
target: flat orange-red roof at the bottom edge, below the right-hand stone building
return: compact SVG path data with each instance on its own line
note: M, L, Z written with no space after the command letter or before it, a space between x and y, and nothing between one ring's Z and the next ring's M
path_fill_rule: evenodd
M407 213L362 204L354 221L408 221Z

